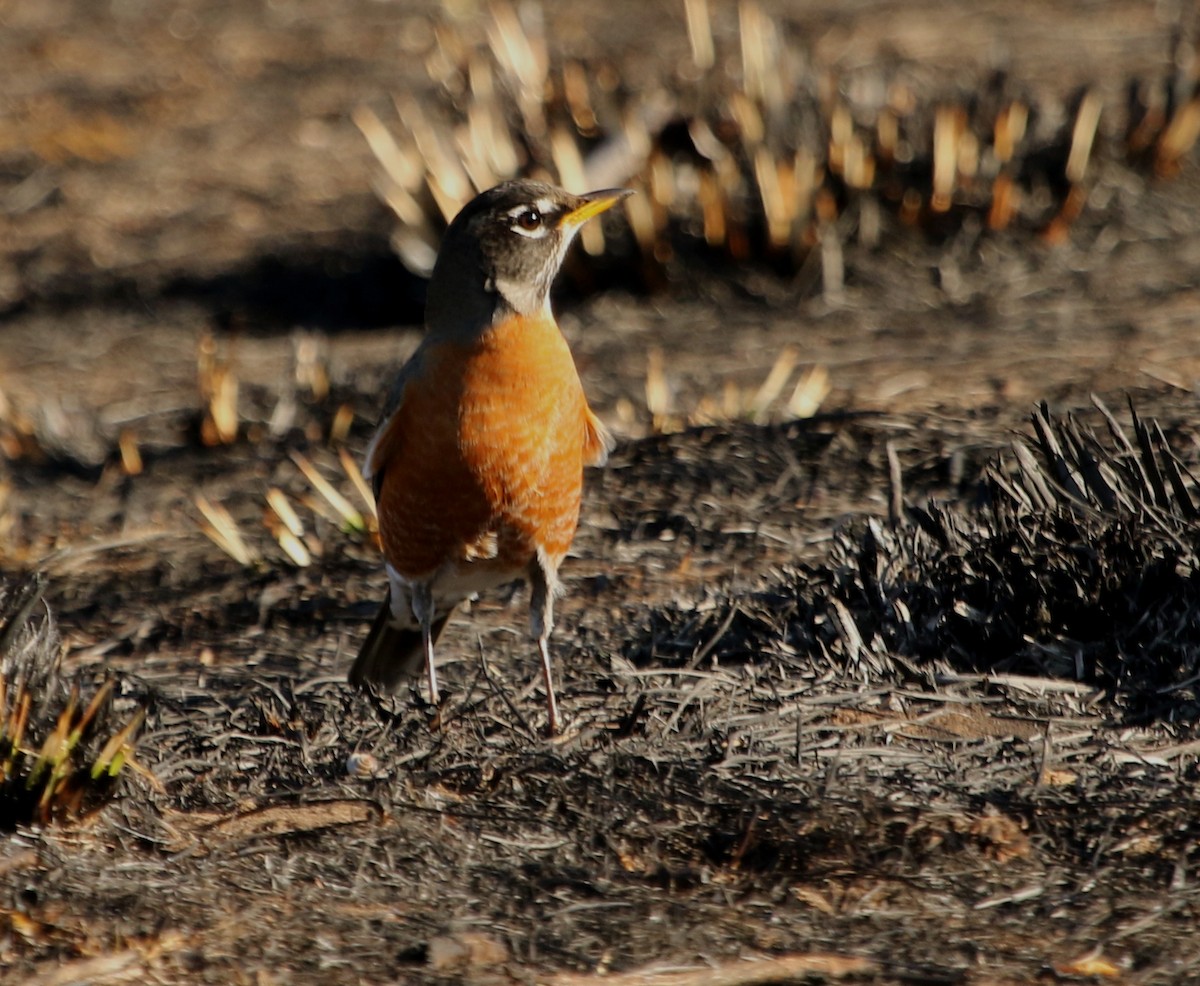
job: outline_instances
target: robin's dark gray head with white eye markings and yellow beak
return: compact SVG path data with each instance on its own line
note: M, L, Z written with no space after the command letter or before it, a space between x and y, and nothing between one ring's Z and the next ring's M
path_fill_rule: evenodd
M607 188L572 196L529 179L480 193L442 241L430 281L428 326L478 331L508 313L542 312L575 234L628 194ZM474 325L454 324L464 317Z

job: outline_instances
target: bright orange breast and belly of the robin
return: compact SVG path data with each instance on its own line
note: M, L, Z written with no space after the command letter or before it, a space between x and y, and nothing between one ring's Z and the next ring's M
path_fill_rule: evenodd
M430 348L380 463L389 564L409 578L446 563L512 577L541 547L557 565L578 522L588 414L552 321L512 319L469 345Z

